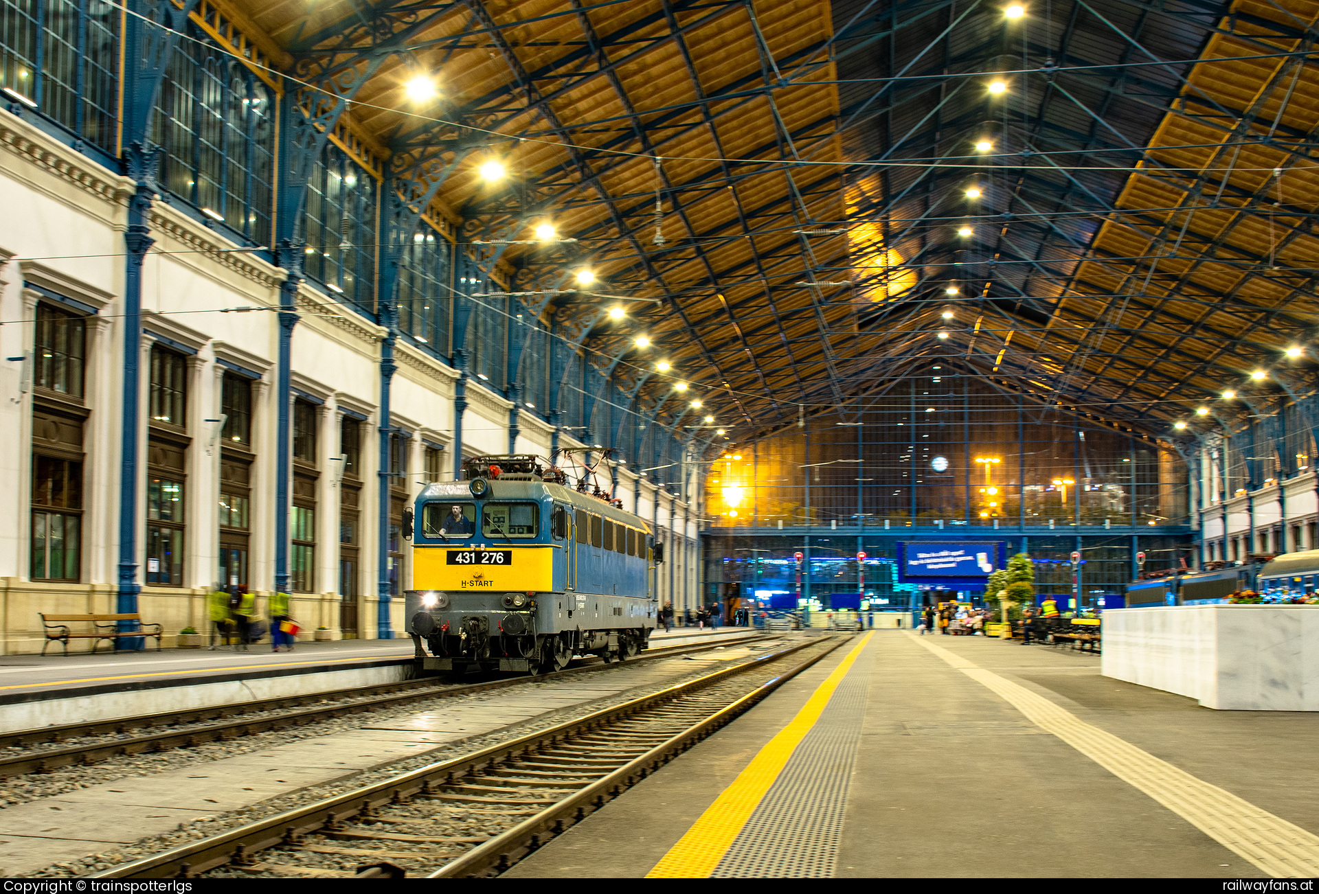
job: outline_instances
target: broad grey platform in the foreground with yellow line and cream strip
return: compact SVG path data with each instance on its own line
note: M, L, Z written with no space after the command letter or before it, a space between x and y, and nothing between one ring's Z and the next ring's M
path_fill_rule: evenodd
M859 634L506 876L1319 874L1319 713L1213 711L1099 663Z

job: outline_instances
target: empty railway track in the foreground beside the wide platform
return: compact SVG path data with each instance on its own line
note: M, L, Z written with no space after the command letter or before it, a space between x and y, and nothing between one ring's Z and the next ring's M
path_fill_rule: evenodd
M848 640L783 646L88 877L497 876Z

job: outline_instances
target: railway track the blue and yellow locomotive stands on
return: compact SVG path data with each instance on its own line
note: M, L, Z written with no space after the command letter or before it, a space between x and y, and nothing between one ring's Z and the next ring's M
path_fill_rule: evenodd
M654 661L673 655L687 655L731 645L761 642L769 637L723 640L720 642L648 649L625 663ZM520 686L522 683L563 679L588 674L604 667L604 662L588 662L539 676L513 676L480 683L452 684L441 678L426 676L397 683L356 686L307 695L262 699L243 704L190 708L162 713L141 715L117 720L98 720L62 727L45 727L0 734L0 781L28 773L47 773L75 765L92 765L121 754L168 752L193 748L214 741L227 741L273 729L302 727L321 720L393 709L413 701L448 699ZM268 713L269 712L269 713ZM253 717L251 715L266 715ZM133 730L137 734L131 734ZM62 748L32 749L33 745L66 742L75 738L96 738L71 742ZM15 753L15 749L29 749ZM7 753L8 752L8 753Z

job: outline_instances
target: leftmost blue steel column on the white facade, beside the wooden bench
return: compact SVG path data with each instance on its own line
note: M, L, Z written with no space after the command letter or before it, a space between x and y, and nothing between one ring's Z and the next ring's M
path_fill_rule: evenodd
M140 430L138 392L141 390L142 356L142 260L154 244L146 216L156 194L156 171L160 149L133 144L124 152L128 175L137 181L137 190L128 202L128 229L124 243L128 264L124 270L124 398L119 468L119 593L115 611L137 612L137 436Z

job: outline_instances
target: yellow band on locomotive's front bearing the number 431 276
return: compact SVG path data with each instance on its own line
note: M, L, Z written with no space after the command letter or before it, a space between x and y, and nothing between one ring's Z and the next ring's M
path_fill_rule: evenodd
M546 592L554 589L554 549L418 546L413 549L413 588Z

